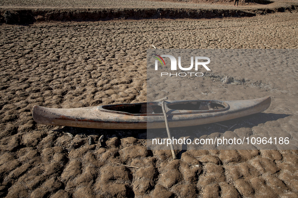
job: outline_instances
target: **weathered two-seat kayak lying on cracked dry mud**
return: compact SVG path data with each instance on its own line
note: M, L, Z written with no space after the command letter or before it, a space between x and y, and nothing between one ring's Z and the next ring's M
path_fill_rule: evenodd
M270 97L242 101L165 101L167 122L172 127L188 127L216 123L269 108ZM38 124L94 129L158 129L165 128L162 102L104 105L99 107L53 109L33 107Z

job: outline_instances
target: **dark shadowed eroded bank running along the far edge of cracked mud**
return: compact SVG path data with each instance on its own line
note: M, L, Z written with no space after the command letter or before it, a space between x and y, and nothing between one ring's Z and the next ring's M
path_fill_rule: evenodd
M222 17L253 17L296 10L295 6L274 9L221 10L221 9L1 9L0 22L32 24L38 21L101 21L111 19L201 19Z

